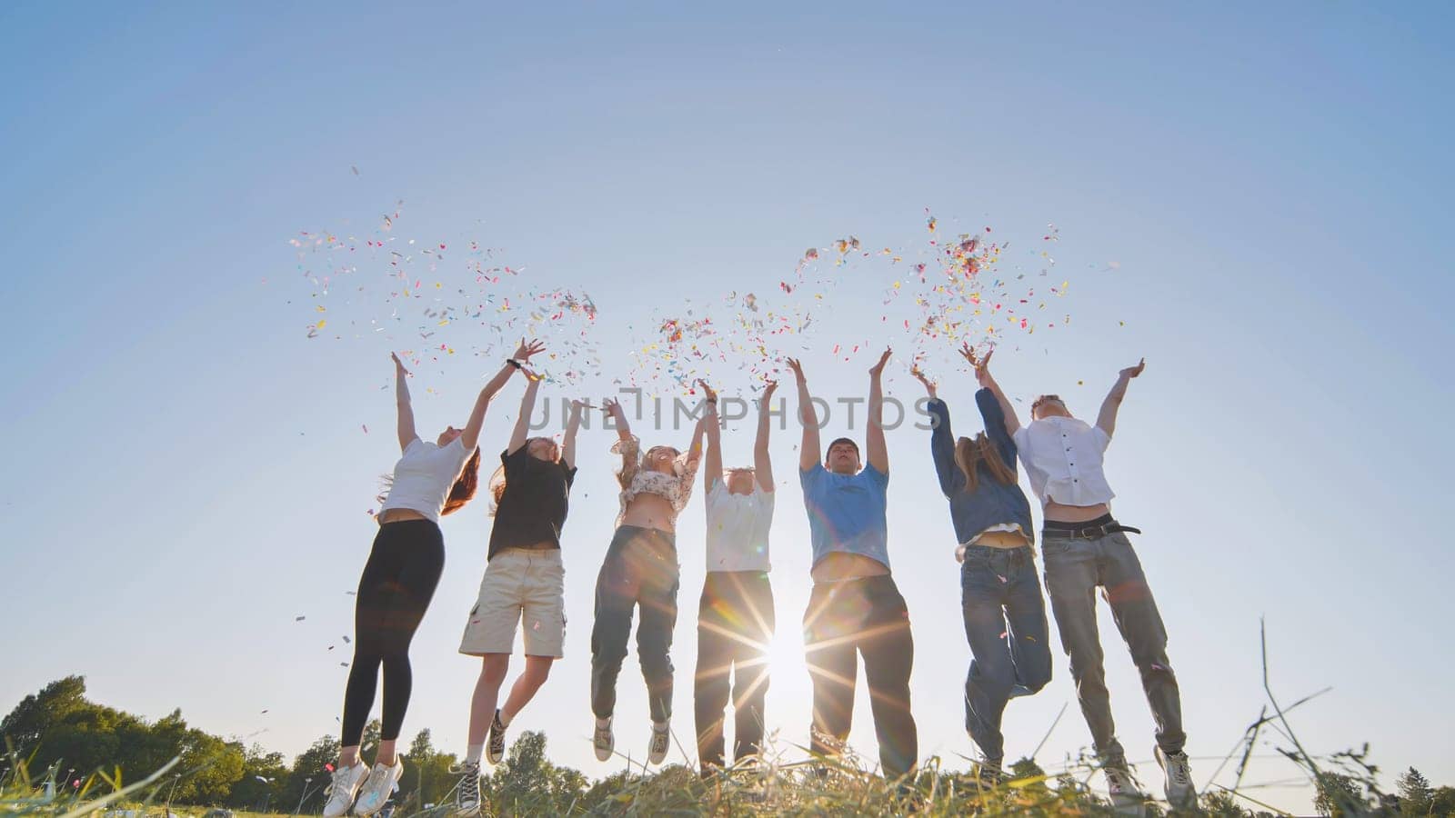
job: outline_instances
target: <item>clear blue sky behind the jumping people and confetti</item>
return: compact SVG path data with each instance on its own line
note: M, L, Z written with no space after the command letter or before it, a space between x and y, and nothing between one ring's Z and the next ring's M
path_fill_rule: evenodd
M256 739L290 754L336 729L343 591L397 450L361 431L391 425L388 345L303 336L316 316L285 245L298 230L359 224L362 237L402 198L400 236L474 237L537 285L589 291L611 368L652 307L771 293L805 247L850 233L920 242L930 207L1017 240L1061 229L1074 323L1004 348L1007 390L1061 392L1090 415L1119 367L1148 358L1109 476L1117 515L1147 531L1136 544L1190 754L1221 757L1257 715L1261 616L1280 694L1334 687L1296 719L1307 747L1368 741L1384 769L1455 785L1455 668L1439 646L1455 614L1439 524L1455 445L1438 421L1455 344L1449 7L886 13L7 4L0 706L80 672L108 704L180 706L196 726L266 731ZM1101 271L1113 259L1120 269ZM857 394L869 360L828 346L864 341L844 319L874 306L842 307L805 357L816 390ZM870 325L867 341L889 339ZM419 373L422 428L464 416L490 355ZM941 368L972 431L972 383ZM902 367L888 387L918 396ZM512 384L493 408L487 453L518 396ZM730 461L746 458L746 435L729 432ZM781 477L794 438L774 440ZM608 445L583 432L567 658L518 722L589 776L615 769L591 758L586 696L589 592L615 511ZM925 432L905 426L889 447L921 753L963 764L950 520ZM768 716L802 742L809 550L797 488L784 489ZM698 504L681 524L684 741ZM455 751L476 671L455 646L487 524L483 504L447 521L447 573L413 651L406 735L429 726ZM1110 617L1103 639L1120 738L1149 760L1151 719ZM618 745L645 751L634 659L621 690ZM853 741L872 754L860 699ZM1088 742L1058 652L1052 684L1011 704L1007 750L1030 751L1067 702L1043 763ZM1199 785L1213 764L1195 763ZM1296 776L1272 760L1254 773ZM1307 789L1261 792L1308 809Z

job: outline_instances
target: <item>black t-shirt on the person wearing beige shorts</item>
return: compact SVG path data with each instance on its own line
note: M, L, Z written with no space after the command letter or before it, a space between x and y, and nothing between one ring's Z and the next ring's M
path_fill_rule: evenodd
M515 453L502 451L505 492L495 509L490 528L490 552L486 560L503 549L550 543L560 547L560 528L566 524L570 483L576 470L565 463L531 457L530 447Z

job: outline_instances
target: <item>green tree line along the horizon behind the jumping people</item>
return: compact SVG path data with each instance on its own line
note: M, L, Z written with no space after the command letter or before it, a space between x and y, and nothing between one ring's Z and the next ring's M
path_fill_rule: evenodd
M378 731L377 720L365 728L365 747L378 742ZM113 780L118 776L121 782L140 780L180 755L154 798L276 814L320 812L323 790L339 754L339 739L333 735L319 738L288 763L282 753L191 728L180 710L147 720L87 700L86 680L80 675L52 681L26 696L0 720L0 744L10 751L0 767L19 760L32 780L51 777L58 787L81 787L96 771L106 771ZM406 755L410 766L396 795L396 803L404 809L402 814L453 798L458 776L450 769L457 758L438 751L428 729L415 735ZM1042 774L1033 767L1021 761L1016 773ZM1372 767L1368 770L1374 773ZM591 782L578 770L557 767L546 757L546 736L522 732L505 763L483 782L482 795L499 814L562 815L620 799L629 785L630 776L624 771ZM1384 795L1374 789L1372 774L1321 771L1315 780L1314 808L1321 815L1455 818L1455 787L1433 786L1413 767L1398 776L1395 786L1397 795ZM1202 808L1219 817L1253 815L1227 790L1205 793Z

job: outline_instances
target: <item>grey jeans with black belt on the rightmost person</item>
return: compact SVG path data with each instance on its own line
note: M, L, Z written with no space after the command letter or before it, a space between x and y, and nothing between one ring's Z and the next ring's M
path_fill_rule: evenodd
M1096 626L1096 587L1104 588L1122 639L1142 675L1142 690L1157 722L1157 744L1164 753L1180 753L1187 735L1181 726L1177 677L1167 661L1167 629L1147 587L1142 563L1126 534L1096 540L1043 539L1046 592L1061 630L1061 645L1071 656L1071 678L1077 683L1081 713L1091 728L1091 745L1103 763L1125 763L1116 739L1112 703L1101 670L1101 638Z

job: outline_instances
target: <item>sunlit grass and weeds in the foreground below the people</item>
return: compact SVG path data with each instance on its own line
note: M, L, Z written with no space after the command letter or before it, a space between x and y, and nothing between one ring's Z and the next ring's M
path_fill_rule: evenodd
M1264 668L1266 668L1264 645ZM1289 747L1279 753L1292 761L1315 786L1333 779L1347 786L1327 789L1323 805L1327 811L1346 815L1371 814L1379 803L1378 770L1366 760L1368 748L1346 751L1321 758L1311 755L1298 741L1288 713L1318 694L1283 706L1273 694L1264 671L1269 706L1250 723L1243 738L1216 767L1216 777L1235 764L1234 787L1212 787L1202 793L1196 814L1218 817L1247 817L1253 814L1286 815L1250 795L1256 786L1244 785L1244 771L1260 736L1270 734ZM1269 712L1272 707L1272 713ZM541 754L544 745L540 747ZM802 760L806 750L784 745L770 735L764 758L754 767L728 769L711 779L703 779L691 767L675 764L655 773L645 767L610 776L589 789L563 793L559 787L543 786L551 776L551 766L540 770L514 770L511 785L487 780L485 789L486 815L611 815L611 817L748 817L748 815L1164 815L1164 805L1147 802L1133 808L1113 809L1090 789L1099 774L1090 757L1072 760L1055 774L1048 774L1030 760L1011 769L1008 780L997 786L981 785L970 773L944 769L938 757L921 767L914 782L885 782L851 750L832 758ZM32 777L26 760L13 750L7 753L0 773L0 817L35 815L47 818L81 818L109 809L135 809L146 817L166 814L167 783L179 774L173 771L180 757L156 770L151 776L125 783L119 771L97 770L76 787L57 785L57 770ZM58 766L58 763L57 763ZM1145 773L1157 771L1154 763L1139 764ZM508 776L509 779L511 776ZM1152 776L1160 777L1160 776ZM1160 782L1142 780L1144 789L1154 790ZM515 789L512 789L515 787ZM441 806L420 811L418 803L400 805L394 818L445 818L454 793L445 793ZM205 806L173 806L173 812L188 818L204 818ZM266 818L258 812L233 812L234 818ZM279 814L281 815L281 814Z

